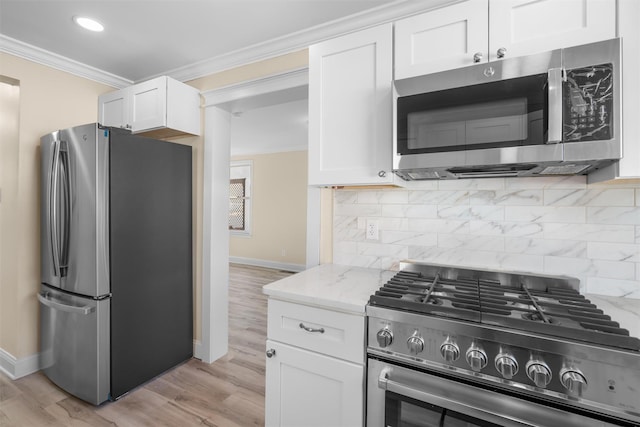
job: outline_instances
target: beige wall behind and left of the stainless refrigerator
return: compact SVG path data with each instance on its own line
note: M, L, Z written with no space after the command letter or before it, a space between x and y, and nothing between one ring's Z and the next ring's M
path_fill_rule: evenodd
M21 358L38 352L40 137L95 122L98 95L112 88L3 53L0 75L20 81L19 136L1 141L13 145L2 159L13 172L2 179L0 348Z

